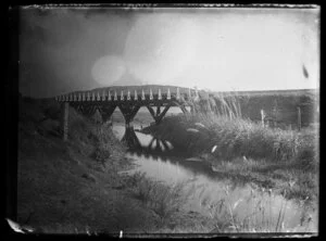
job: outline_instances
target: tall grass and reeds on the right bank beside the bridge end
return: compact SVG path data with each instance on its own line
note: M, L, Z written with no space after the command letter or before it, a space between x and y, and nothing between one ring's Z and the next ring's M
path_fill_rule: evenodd
M215 96L214 100L220 104L213 112L166 117L161 126L152 127L153 134L195 154L212 152L215 147L212 155L218 158L317 160L313 131L272 129L243 118L236 96Z

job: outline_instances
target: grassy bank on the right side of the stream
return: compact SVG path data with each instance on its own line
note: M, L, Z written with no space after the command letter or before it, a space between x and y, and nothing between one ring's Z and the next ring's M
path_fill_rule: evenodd
M166 117L142 130L209 163L225 179L253 182L287 199L318 199L318 132L262 127L240 118Z

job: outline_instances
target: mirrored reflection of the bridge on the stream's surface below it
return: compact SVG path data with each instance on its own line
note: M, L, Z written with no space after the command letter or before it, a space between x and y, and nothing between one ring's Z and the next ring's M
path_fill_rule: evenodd
M168 141L164 141L152 137L151 135L145 135L137 129L125 127L115 127L120 132L117 136L122 141L125 141L128 145L128 156L138 160L138 163L143 165L148 173L150 170L150 163L153 163L154 167L167 166L168 180L175 181L175 177L180 177L180 174L185 172L185 176L191 176L195 178L197 175L203 175L210 181L217 181L226 179L230 176L221 175L212 169L212 167L202 162L188 161L190 155L184 150L174 149L173 144ZM124 132L124 134L123 134ZM164 163L164 164L161 164ZM164 169L164 167L162 167ZM152 168L153 169L153 168ZM179 179L179 178L177 178ZM231 186L243 186L241 178L236 178L231 182Z

